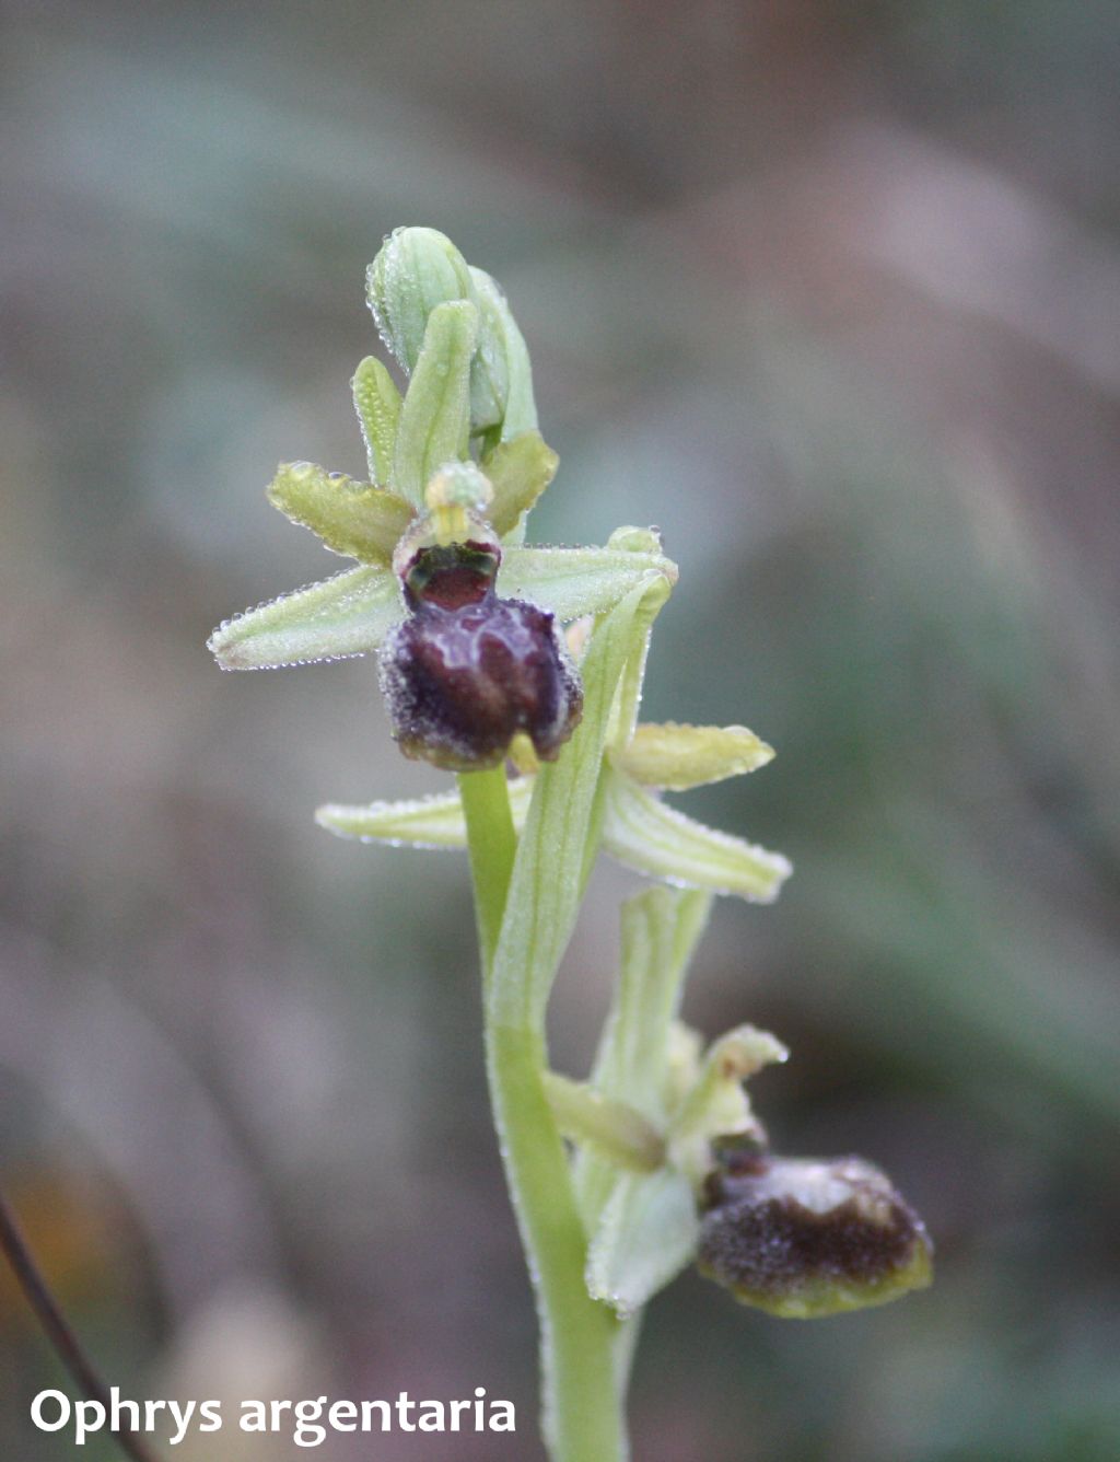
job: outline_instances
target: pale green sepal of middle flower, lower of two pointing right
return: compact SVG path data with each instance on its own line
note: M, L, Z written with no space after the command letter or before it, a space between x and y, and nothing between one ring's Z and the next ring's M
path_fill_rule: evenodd
M654 879L771 904L792 873L788 858L665 807L618 772L607 773L602 846Z

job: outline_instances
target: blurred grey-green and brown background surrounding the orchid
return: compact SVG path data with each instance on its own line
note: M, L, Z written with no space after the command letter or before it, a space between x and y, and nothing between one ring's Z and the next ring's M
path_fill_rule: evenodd
M262 490L363 469L363 270L424 222L529 339L534 535L658 523L681 566L649 716L779 750L686 800L797 866L716 909L689 1018L778 1032L776 1143L882 1162L939 1249L930 1292L819 1325L680 1281L637 1462L1120 1456L1117 20L3 7L0 1165L126 1393L484 1385L515 1437L317 1455L541 1456L465 864L311 822L439 776L368 662L203 649L336 566ZM633 886L597 874L564 1070ZM70 1455L28 1421L57 1380L0 1284L0 1455ZM243 1442L190 1456L306 1455Z

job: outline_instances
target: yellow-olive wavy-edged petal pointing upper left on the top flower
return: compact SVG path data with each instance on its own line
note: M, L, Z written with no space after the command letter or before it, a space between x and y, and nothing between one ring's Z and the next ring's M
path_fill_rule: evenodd
M387 566L412 509L396 493L326 472L314 462L282 462L268 497L285 518L319 534L328 548Z

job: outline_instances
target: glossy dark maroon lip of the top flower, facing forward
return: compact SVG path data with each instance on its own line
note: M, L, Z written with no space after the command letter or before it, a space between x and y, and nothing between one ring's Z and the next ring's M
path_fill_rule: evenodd
M484 544L427 548L408 567L414 613L382 651L382 689L405 756L481 770L523 731L551 762L579 724L583 693L553 616L500 599L496 570Z

